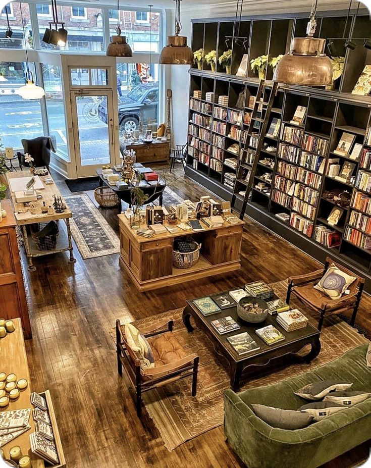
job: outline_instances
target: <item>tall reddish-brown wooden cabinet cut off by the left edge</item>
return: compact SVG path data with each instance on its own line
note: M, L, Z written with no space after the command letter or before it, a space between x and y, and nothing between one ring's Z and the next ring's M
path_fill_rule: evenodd
M32 338L21 258L17 242L17 221L10 200L2 201L7 216L0 223L0 304L3 319L21 317L26 338Z

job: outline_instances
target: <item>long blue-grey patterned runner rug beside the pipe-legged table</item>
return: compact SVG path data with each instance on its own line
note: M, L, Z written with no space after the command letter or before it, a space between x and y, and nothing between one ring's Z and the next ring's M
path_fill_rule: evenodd
M73 218L72 236L83 259L119 253L120 240L88 195L66 196Z

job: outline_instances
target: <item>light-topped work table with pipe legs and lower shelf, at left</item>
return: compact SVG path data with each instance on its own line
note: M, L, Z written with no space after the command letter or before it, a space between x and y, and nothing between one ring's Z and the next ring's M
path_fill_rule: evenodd
M31 177L32 174L30 171L23 171L23 172L12 172L12 173L7 173L7 178L8 182L10 179L15 179L15 178L20 178L20 177ZM50 177L48 174L47 177ZM40 194L42 195L42 199L38 200L39 203L42 204L43 201L45 201L45 205L49 206L53 204L54 202L54 195L61 196L60 191L58 190L56 184L53 182L52 184L45 184L43 181L43 177L40 177L40 180L42 181L42 184L44 188L42 190L39 190ZM11 190L11 188L9 187ZM67 209L63 213L54 213L52 214L32 214L30 211L26 210L26 213L18 213L17 206L20 205L20 203L16 202L16 197L15 194L11 190L11 196L12 196L12 201L13 201L13 206L15 207L15 217L17 220L18 226L22 230L22 235L23 235L23 240L24 240L24 245L26 249L26 254L27 254L27 262L28 262L28 271L32 272L35 271L36 268L33 265L32 258L37 257L37 256L42 256L42 255L48 255L50 253L57 253L57 252L65 252L69 250L70 252L70 258L69 258L69 263L76 263L76 259L73 256L73 248L72 248L72 239L71 239L71 230L70 230L70 218L72 218L72 212L71 210L67 207ZM30 235L29 232L27 232L26 226L29 224L35 224L35 223L48 223L49 221L57 221L57 220L65 220L66 222L66 231L65 229L62 228L62 224L59 225L59 238L58 242L56 245L56 248L52 250L38 250L35 243L33 242L33 239Z

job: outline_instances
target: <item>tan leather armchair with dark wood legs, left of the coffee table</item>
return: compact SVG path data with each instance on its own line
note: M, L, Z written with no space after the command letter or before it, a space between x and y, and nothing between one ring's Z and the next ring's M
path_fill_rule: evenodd
M153 353L154 367L141 369L140 360L128 345L125 325L116 321L117 366L122 375L124 369L136 394L138 418L142 415L142 393L192 376L192 396L197 392L199 357L188 354L173 334L172 320L141 329Z

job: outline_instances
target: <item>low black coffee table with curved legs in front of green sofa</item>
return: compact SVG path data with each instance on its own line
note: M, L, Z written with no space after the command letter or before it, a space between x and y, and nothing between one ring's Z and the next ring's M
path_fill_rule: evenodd
M244 287L241 287L244 289ZM229 291L234 291L230 289ZM223 291L223 292L229 292ZM277 296L273 296L276 299ZM211 321L220 319L222 317L231 316L240 326L239 330L234 330L231 333L220 335L214 327L210 324ZM194 330L190 318L194 320L196 326L206 333L208 338L213 342L214 346L229 362L231 387L233 390L238 390L240 385L240 378L242 372L249 366L264 366L267 365L272 359L282 358L285 355L295 355L306 345L311 345L311 350L304 357L297 356L300 360L310 362L321 351L320 332L312 327L310 324L300 330L286 332L278 323L277 316L268 315L266 321L260 324L249 324L242 321L237 315L237 307L223 309L221 312L205 317L197 306L191 300L187 300L187 305L183 310L183 323L189 332ZM267 325L275 326L284 336L285 340L280 341L273 345L268 345L256 333L255 330L266 327ZM249 352L247 354L238 355L234 348L227 341L229 336L237 335L239 333L247 332L253 338L260 349Z

